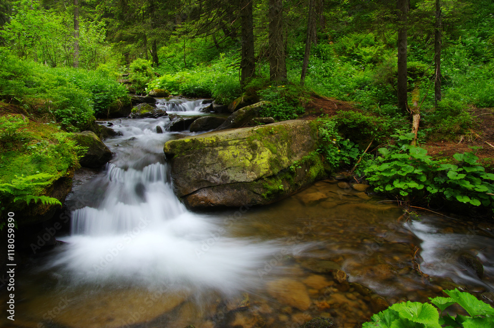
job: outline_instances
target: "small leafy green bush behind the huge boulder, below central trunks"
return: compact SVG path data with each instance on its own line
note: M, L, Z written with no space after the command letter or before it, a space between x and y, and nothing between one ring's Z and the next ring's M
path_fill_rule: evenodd
M284 121L295 119L304 112L299 102L301 90L294 85L269 85L258 93L261 100L269 102L260 112L263 117Z

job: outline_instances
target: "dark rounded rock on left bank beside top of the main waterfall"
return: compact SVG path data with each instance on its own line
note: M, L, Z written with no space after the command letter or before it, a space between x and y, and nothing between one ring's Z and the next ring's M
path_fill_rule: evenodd
M82 131L74 133L73 138L79 146L87 147L84 156L79 160L81 166L100 167L112 158L112 151L101 142L94 132Z

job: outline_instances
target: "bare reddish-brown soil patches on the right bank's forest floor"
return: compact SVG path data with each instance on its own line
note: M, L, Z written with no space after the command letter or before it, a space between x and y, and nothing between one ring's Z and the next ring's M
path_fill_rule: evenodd
M306 114L301 119L316 119L321 115L333 116L338 111L356 110L352 103L333 98L312 96L305 106ZM427 149L433 157L451 157L457 152L472 151L471 147L482 147L474 153L488 172L494 170L494 109L471 108L470 114L474 117L474 126L465 135L458 136L456 140L441 140L437 137L420 146Z

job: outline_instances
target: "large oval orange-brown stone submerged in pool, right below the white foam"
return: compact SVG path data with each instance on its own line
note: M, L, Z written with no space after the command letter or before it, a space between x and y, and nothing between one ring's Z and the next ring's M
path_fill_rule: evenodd
M304 284L289 278L270 281L266 284L268 293L281 304L305 311L309 308L310 298Z

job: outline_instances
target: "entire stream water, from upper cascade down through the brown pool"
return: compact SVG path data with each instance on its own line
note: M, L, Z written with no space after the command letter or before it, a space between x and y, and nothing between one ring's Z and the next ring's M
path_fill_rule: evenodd
M159 106L202 108L171 103ZM66 244L23 268L5 326L281 328L326 316L354 328L386 301L426 301L452 281L494 292L488 224L411 216L333 180L270 206L193 213L173 194L163 154L190 133L156 133L168 117L112 122L122 133L105 141L114 158L76 183ZM483 262L482 280L462 253Z

